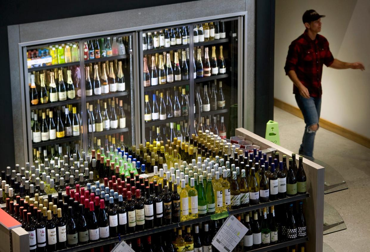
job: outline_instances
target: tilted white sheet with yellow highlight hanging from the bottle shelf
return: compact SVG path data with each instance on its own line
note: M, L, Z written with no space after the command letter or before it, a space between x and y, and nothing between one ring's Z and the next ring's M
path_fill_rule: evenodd
M248 228L231 215L213 238L212 245L219 251L230 252L238 245L246 232Z

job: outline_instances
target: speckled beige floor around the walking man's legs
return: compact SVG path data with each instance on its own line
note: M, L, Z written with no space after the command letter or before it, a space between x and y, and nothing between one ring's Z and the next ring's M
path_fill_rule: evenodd
M274 120L279 123L280 145L298 153L305 127L303 119L275 107ZM348 185L348 190L324 196L347 226L346 230L325 235L324 242L335 252L370 251L370 149L320 128L313 156L334 167Z

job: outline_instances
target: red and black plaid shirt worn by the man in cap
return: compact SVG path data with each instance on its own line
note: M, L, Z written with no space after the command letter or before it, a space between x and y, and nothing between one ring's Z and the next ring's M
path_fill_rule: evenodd
M320 97L323 64L329 67L333 61L334 57L326 38L317 34L312 40L306 30L290 44L284 69L286 74L294 70L300 82L308 89L310 96ZM293 93L299 94L295 85L293 85Z

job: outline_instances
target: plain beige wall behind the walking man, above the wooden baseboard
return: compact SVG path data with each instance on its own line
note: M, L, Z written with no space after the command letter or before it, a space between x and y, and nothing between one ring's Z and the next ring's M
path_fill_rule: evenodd
M290 43L305 30L302 15L314 9L322 18L321 35L334 58L361 61L366 70L323 67L321 118L370 138L370 1L276 0L275 98L296 106L284 65Z

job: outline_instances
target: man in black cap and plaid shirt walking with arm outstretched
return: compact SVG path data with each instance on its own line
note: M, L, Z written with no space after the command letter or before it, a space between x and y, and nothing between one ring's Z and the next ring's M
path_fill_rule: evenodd
M335 69L365 69L360 62L348 63L334 59L329 42L317 34L321 31L322 17L325 16L314 10L307 10L303 14L306 30L290 44L284 67L286 75L293 81L293 93L306 123L299 154L309 157L313 157L313 143L319 129L323 64Z

